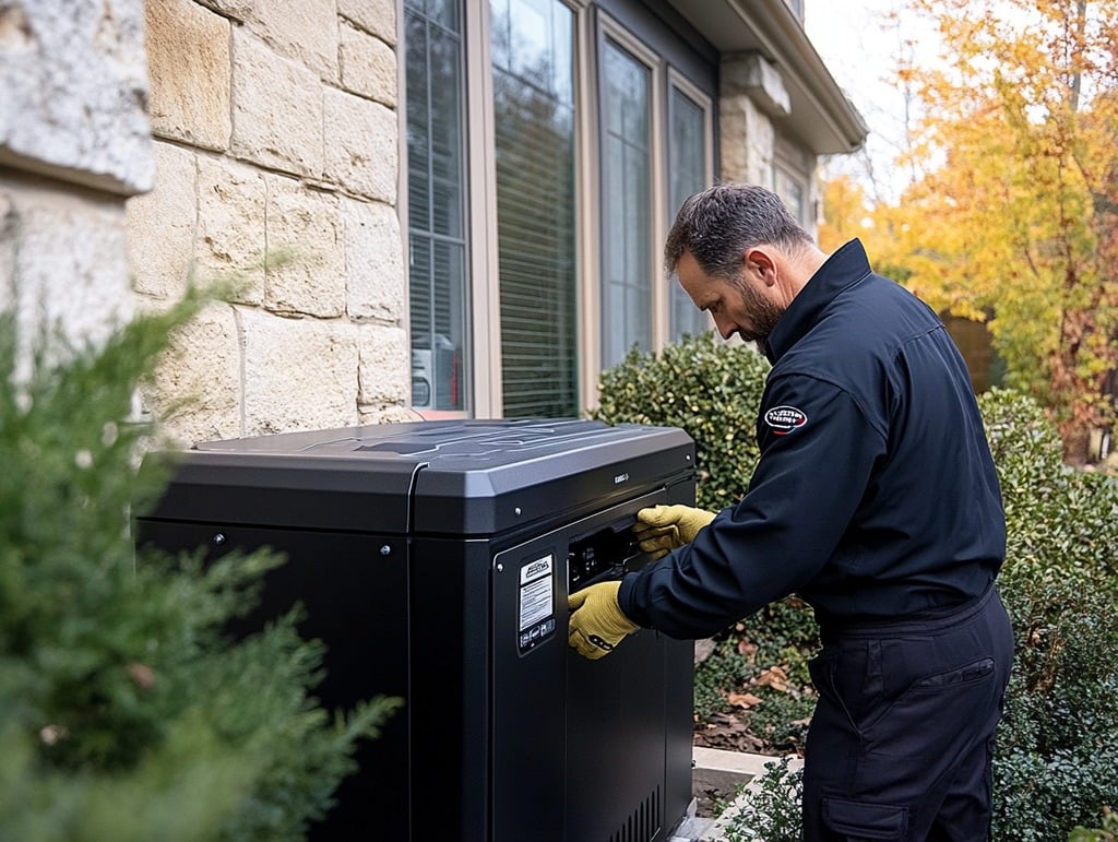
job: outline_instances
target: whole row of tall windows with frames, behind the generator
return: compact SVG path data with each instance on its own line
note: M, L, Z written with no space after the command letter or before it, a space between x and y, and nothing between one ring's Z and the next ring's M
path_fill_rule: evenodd
M581 416L634 344L708 329L660 253L712 179L718 54L654 6L404 0L401 221L427 417Z

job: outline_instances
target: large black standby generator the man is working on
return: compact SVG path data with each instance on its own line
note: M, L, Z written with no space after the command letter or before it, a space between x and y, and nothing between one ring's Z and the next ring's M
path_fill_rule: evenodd
M315 842L664 842L691 803L693 646L567 643L567 595L647 562L637 510L694 503L682 431L447 420L173 454L139 546L285 556L249 623L300 603L316 696L404 699Z

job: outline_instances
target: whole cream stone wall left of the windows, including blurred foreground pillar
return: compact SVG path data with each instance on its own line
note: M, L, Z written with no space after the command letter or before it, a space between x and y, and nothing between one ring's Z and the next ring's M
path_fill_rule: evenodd
M0 4L0 305L96 340L235 277L143 395L164 429L189 443L407 416L396 15Z

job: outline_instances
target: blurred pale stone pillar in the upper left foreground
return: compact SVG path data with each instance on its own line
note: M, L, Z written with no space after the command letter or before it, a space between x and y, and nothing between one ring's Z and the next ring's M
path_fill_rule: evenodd
M25 340L132 312L124 202L152 186L140 0L0 4L0 308Z

